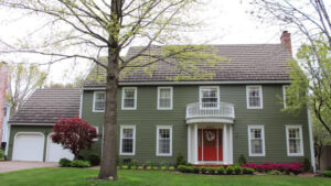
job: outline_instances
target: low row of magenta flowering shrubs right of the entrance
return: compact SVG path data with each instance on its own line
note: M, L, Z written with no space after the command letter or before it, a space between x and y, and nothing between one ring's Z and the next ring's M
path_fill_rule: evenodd
M301 173L303 171L303 163L293 162L291 164L288 163L263 163L263 164L255 164L255 163L246 163L242 165L242 167L249 167L254 168L257 172L268 172L268 171L280 171L280 172L291 172L295 174Z

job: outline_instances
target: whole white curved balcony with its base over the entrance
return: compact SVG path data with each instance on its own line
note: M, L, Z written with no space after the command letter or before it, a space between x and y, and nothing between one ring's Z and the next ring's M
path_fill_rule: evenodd
M233 123L234 105L225 102L195 102L186 106L186 123Z

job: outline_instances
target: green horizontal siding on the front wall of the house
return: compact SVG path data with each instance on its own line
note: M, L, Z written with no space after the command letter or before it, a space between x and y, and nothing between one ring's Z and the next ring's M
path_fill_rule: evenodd
M138 86L137 110L121 110L121 89L118 90L118 131L120 124L136 125L136 155L120 155L120 158L136 158L140 162L167 161L175 162L181 152L184 156L188 150L188 130L185 124L185 108L188 103L199 101L199 86L173 86L173 110L157 110L157 86ZM263 109L247 109L246 85L221 85L222 102L235 105L235 122L233 130L234 161L244 154L249 162L301 162L300 156L287 156L286 124L301 124L303 133L305 156L310 160L310 145L307 112L291 116L281 112L282 86L263 85ZM93 125L104 122L104 113L93 112L93 91L85 90L83 98L83 118ZM172 125L172 156L156 155L157 125ZM248 156L247 125L265 125L266 156ZM118 135L119 139L119 135ZM100 141L94 145L100 152Z

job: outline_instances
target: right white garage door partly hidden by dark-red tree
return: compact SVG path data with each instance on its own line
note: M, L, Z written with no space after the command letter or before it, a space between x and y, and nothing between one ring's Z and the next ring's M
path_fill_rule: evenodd
M73 160L74 154L70 150L64 150L61 144L53 143L49 135L46 162L58 162L61 158Z

